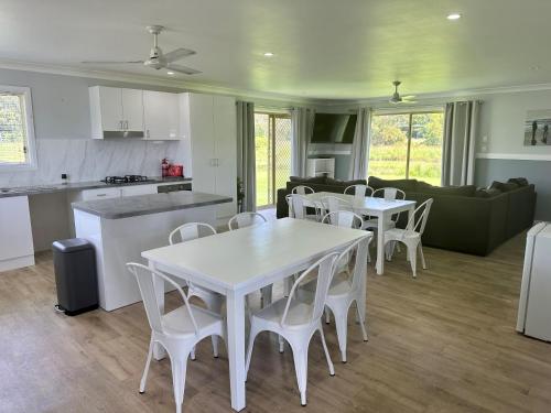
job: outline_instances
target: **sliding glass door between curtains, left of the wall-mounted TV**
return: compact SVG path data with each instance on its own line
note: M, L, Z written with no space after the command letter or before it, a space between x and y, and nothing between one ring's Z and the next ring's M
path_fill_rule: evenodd
M257 207L276 204L277 191L291 174L291 117L289 113L255 113Z

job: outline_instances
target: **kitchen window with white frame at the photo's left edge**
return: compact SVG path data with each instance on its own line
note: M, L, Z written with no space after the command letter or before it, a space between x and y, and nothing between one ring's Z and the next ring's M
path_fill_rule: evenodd
M35 166L31 90L0 86L0 171Z

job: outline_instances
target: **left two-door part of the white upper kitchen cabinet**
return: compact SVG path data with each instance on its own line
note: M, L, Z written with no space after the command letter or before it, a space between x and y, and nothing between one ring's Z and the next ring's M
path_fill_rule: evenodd
M89 88L91 138L143 138L143 90Z

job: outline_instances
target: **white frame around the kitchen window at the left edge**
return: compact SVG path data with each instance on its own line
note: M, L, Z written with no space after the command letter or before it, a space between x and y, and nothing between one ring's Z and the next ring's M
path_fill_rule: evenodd
M23 100L23 117L26 134L26 162L24 163L6 163L0 161L0 172L14 171L35 171L37 169L36 157L36 139L34 134L34 116L32 110L31 88L25 86L8 86L0 85L0 94L11 94L22 97Z

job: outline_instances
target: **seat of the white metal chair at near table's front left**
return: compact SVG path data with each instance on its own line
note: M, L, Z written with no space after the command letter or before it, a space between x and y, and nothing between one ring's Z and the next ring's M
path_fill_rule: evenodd
M192 307L193 316L199 329L216 327L217 324L222 325L223 320L219 315L196 305L190 305L190 307ZM171 335L186 336L195 334L190 312L185 305L164 314L161 317L161 323L164 330Z

